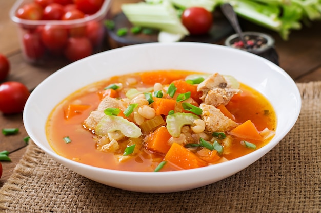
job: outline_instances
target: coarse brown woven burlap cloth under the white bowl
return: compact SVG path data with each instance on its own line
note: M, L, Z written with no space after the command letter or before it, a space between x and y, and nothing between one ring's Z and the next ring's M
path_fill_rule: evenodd
M321 82L297 86L302 111L292 130L224 180L177 193L129 192L77 175L30 143L0 190L0 212L320 213Z

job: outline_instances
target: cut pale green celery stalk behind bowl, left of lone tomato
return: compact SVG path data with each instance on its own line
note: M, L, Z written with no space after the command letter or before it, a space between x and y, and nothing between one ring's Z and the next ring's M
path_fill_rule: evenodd
M189 35L173 5L168 1L160 4L146 2L128 3L122 5L122 11L135 26L154 28L173 34Z

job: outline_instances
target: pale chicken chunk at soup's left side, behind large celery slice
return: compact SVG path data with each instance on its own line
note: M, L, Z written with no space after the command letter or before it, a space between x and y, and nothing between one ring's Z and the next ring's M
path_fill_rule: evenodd
M89 130L94 130L99 121L104 117L104 110L107 108L120 108L123 111L127 108L128 103L126 99L115 99L106 96L101 103L99 103L98 108L92 111L87 119L84 121L84 126Z

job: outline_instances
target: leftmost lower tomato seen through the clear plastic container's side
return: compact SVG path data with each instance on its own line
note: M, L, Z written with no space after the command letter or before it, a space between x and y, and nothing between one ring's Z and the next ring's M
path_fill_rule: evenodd
M39 59L45 53L45 46L41 40L41 35L35 33L25 33L23 35L24 53L29 59Z

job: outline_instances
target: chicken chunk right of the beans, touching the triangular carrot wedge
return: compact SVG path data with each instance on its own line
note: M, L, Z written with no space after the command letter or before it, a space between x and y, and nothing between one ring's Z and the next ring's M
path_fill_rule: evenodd
M201 116L208 132L227 132L238 126L238 123L212 105L200 104L199 107L203 110Z

